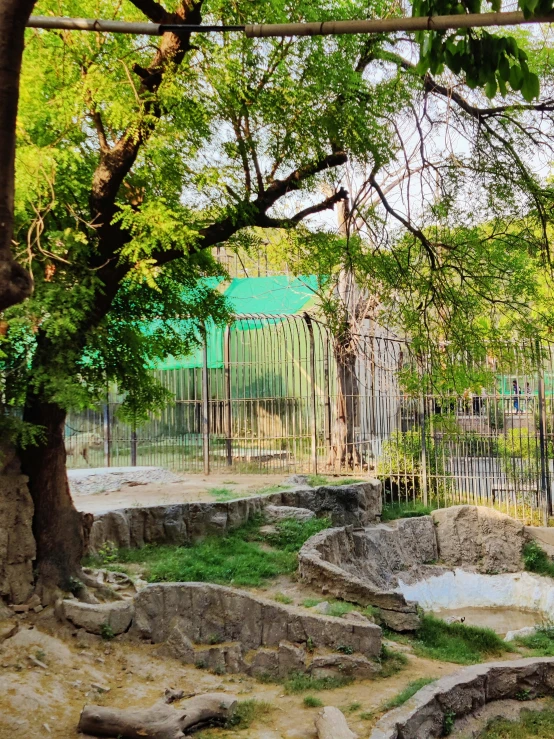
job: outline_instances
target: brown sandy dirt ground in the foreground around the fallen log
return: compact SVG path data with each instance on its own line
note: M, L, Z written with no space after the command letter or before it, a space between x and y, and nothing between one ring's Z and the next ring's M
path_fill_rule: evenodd
M241 676L217 676L156 655L155 645L118 637L105 642L81 631L61 627L51 609L21 620L20 631L0 645L0 739L70 739L87 703L121 708L144 708L155 703L165 688L186 694L221 690L239 700L255 698L271 703L267 716L243 731L210 730L205 737L225 739L314 739L317 709L303 706L303 695L284 695L282 686L261 684ZM403 647L406 649L406 647ZM29 655L46 669L33 665ZM379 717L379 707L418 677L440 677L457 665L409 655L402 672L386 679L366 680L317 696L325 705L345 709L351 729L367 737ZM99 693L91 683L109 688ZM348 707L359 703L353 711ZM176 704L178 707L179 704ZM372 712L362 719L362 712Z

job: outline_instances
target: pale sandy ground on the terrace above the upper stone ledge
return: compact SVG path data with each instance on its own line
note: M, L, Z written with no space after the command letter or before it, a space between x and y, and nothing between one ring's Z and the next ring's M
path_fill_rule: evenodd
M209 476L200 474L184 475L179 481L171 483L147 483L123 485L113 492L100 492L92 495L74 495L75 506L80 511L97 513L117 508L145 507L154 505L170 505L172 503L188 503L202 500L214 502L222 499L221 493L213 494L210 490L225 488L228 495L224 500L256 495L270 487L284 484L288 475L233 475L232 473L214 473Z

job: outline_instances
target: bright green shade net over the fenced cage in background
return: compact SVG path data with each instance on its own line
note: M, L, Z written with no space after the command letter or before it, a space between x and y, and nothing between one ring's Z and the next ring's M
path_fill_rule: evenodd
M214 285L215 287L215 285ZM231 310L237 316L263 314L270 316L270 322L281 320L279 316L291 316L308 308L314 301L318 280L315 275L306 277L235 277L224 295ZM243 319L235 323L234 331L251 331L261 328L264 322L259 319ZM267 321L265 321L267 323ZM223 334L221 326L207 325L208 368L223 367ZM187 357L167 357L156 369L197 369L203 365L203 349L199 347Z

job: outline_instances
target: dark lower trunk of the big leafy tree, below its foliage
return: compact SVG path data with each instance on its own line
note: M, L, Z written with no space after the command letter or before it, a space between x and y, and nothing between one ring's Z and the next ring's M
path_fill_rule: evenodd
M79 589L85 547L86 518L73 505L65 468L65 417L58 405L36 396L29 399L24 414L25 421L44 428L44 440L21 455L35 505L37 592L44 604L52 602L60 588Z

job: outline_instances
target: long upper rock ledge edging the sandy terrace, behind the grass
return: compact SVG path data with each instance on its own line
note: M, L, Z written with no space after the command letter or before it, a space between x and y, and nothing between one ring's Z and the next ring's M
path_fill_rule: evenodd
M316 516L328 516L334 526L367 526L381 514L381 483L368 480L335 487L303 487L228 503L182 503L99 513L94 517L88 551L93 554L107 542L117 547L143 547L152 543L188 544L210 534L224 535L260 515L269 505L308 509Z

